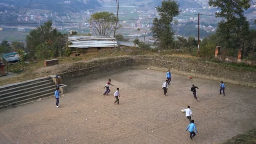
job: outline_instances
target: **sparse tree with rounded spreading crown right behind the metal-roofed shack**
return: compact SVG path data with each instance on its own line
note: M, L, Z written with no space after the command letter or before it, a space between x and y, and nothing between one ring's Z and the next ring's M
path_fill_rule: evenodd
M89 21L96 35L110 35L115 29L115 21L118 21L118 18L114 13L98 12L93 13Z

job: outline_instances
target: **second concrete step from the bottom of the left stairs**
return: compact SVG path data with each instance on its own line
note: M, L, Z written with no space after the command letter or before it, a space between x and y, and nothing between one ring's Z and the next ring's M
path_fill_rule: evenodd
M56 90L56 88L51 88L51 89L47 89L45 91L39 91L37 93L31 93L29 95L19 96L19 97L13 98L13 99L7 99L5 101L0 101L0 105L16 104L19 101L23 101L25 99L33 99L33 98L39 99L40 96L44 95L44 93L51 93L54 96L54 91L55 90Z

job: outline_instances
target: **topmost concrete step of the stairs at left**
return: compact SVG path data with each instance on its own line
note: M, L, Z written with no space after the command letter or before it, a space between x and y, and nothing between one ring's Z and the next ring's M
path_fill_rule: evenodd
M8 84L8 85L2 85L2 86L0 86L0 92L7 90L7 89L11 89L11 88L22 87L23 85L38 83L38 82L44 81L44 80L51 80L51 77L40 77L40 78L36 78L36 79L32 79L32 80L26 80L26 81L23 81L20 83L12 83L12 84Z

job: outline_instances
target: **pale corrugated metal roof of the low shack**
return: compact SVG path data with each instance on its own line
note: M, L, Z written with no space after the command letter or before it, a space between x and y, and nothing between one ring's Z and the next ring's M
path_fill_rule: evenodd
M69 48L118 47L113 36L69 36Z

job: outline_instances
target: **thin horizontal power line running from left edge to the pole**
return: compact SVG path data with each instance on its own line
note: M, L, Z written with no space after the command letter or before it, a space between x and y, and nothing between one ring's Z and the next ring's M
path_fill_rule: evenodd
M27 11L27 10L26 10ZM195 16L197 14L190 14L190 15L184 15L184 16ZM175 16L175 17L181 17L181 16ZM183 17L183 16L182 16ZM159 19L159 17L155 17ZM155 18L143 18L143 19L155 19ZM131 20L143 20L143 19L123 19L119 21L131 21ZM74 21L74 22L53 22L53 24L68 24L68 23L84 23L84 22L91 22L91 21ZM101 21L104 22L104 21ZM19 23L19 24L44 24L45 22L35 22L35 23ZM14 24L14 23L0 23L0 24Z

